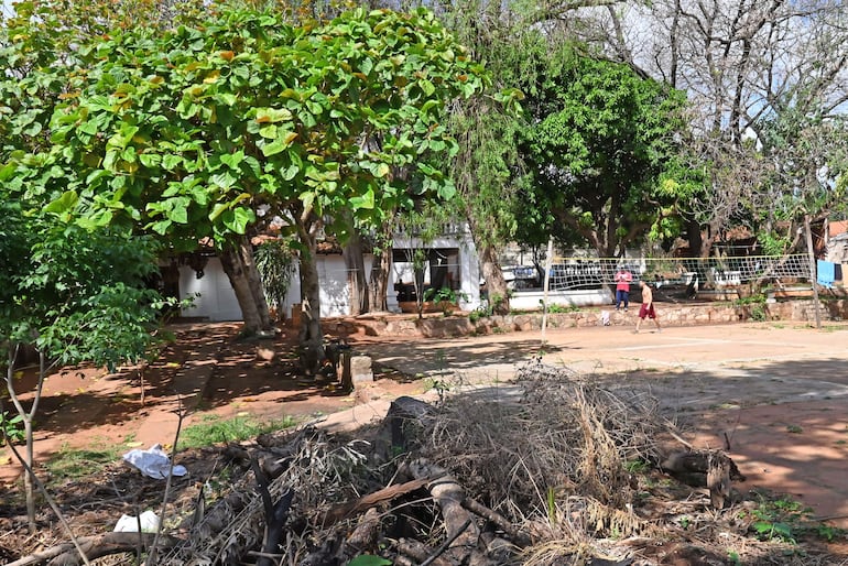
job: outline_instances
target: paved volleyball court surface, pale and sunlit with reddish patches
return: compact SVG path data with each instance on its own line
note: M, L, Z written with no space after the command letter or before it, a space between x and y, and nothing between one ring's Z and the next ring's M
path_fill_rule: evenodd
M848 527L848 325L789 323L550 329L454 339L361 341L407 373L465 383L508 381L546 363L644 384L697 447L728 449L749 480ZM729 448L728 448L729 447Z

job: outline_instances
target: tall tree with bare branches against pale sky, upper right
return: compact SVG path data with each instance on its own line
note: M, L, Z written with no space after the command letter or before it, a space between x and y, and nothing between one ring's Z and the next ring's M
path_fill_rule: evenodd
M848 143L844 135L828 135L829 146L820 151L807 150L815 138L811 132L841 128L848 101L844 2L659 0L585 15L597 23L594 30L602 30L585 34L587 41L688 94L693 137L687 154L707 175L687 218L693 231L711 228L700 246L693 246L696 253L708 254L713 241L735 222L757 228L758 208L774 202L775 192L797 193L795 182L780 171L797 164L800 155L817 155L805 168L829 163L838 175L834 165ZM792 123L794 131L781 139L780 157L767 149L774 149L770 131L778 123Z

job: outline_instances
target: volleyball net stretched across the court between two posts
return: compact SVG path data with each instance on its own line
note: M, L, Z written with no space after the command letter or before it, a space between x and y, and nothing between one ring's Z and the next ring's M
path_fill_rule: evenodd
M619 269L629 271L632 283L684 284L721 289L751 282L778 284L811 281L807 254L743 255L722 258L553 258L547 264L548 289L598 289L617 283ZM544 273L544 270L542 271ZM542 286L541 276L536 277Z

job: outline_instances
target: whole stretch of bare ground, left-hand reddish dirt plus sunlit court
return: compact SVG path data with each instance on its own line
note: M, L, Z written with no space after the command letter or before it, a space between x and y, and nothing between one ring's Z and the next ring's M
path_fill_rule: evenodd
M517 363L541 356L620 387L648 387L685 439L728 451L748 477L748 489L789 493L818 518L848 527L848 325L817 330L759 323L663 333L643 327L638 335L631 328L445 340L355 334L347 338L356 352L373 359L376 381L343 394L329 379L297 374L291 330L274 340L241 342L233 324L177 327L178 342L163 350L143 379L138 369L51 375L39 411L36 459L63 446L170 445L181 413L183 427L209 413L350 426L379 418L398 395L433 385L448 392L505 390ZM21 380L19 390L26 383ZM6 487L20 468L8 450L0 464ZM836 545L834 552L848 556L848 547Z

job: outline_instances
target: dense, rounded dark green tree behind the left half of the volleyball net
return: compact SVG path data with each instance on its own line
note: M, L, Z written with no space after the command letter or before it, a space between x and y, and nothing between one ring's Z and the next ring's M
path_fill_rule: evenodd
M683 94L570 47L539 64L546 73L524 88L532 115L524 151L535 178L530 198L550 210L554 233L613 257L652 229L667 230L684 186L668 178Z

